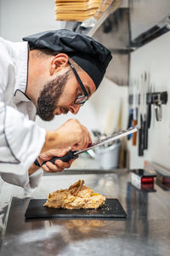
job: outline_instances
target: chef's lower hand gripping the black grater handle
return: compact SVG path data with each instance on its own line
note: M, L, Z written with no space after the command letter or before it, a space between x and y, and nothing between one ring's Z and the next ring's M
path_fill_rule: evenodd
M39 155L39 157L37 158L38 162L40 163L40 165L42 165L42 163L44 161L48 161L50 159L52 159L54 156L63 156L65 155L68 150L62 150L62 149L50 149L42 154ZM55 160L55 164L52 164L51 162L47 162L45 165L42 165L42 169L44 172L62 172L65 168L69 168L71 166L73 160L70 160L68 163L65 163L61 160Z

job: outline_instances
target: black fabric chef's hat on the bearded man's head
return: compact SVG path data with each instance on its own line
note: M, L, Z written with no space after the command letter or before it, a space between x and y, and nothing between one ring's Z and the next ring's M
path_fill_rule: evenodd
M94 38L67 29L40 32L23 38L30 49L48 48L65 53L93 79L96 89L111 61L111 51Z

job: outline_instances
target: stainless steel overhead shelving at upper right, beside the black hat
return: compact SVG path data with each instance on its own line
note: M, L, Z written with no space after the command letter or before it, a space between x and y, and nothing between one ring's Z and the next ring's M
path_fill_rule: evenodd
M94 26L85 27L83 21L67 22L66 27L111 49L113 60L105 76L116 84L128 85L131 52L170 31L169 10L169 0L117 0Z

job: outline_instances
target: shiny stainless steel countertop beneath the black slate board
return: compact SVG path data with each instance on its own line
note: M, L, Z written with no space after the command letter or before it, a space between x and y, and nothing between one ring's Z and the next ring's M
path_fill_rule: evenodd
M127 219L26 221L25 212L31 197L47 198L49 192L68 188L80 178L94 191L117 198L127 212ZM9 214L8 209L6 211L7 227L3 226L1 256L170 254L170 191L156 184L153 192L137 189L126 170L98 173L72 170L44 176L32 195L26 195L22 189L14 189L12 195L11 205L8 201Z

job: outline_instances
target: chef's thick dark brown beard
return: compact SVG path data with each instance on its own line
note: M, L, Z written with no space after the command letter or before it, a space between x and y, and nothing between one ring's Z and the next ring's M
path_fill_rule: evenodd
M44 85L40 96L37 99L37 115L44 121L54 119L54 110L56 108L59 96L61 96L70 72L58 76L56 79Z

